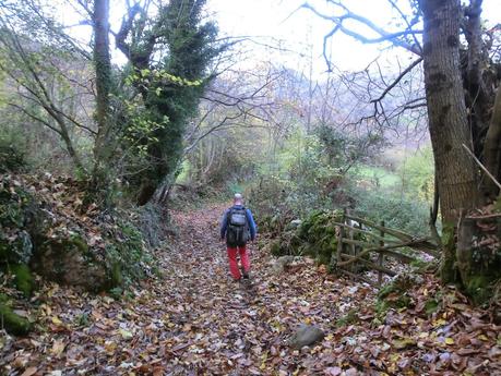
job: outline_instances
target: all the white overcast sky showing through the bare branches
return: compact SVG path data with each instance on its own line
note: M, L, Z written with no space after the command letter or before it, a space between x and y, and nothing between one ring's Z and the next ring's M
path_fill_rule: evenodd
M64 0L55 0L56 2ZM325 0L309 0L320 10L329 13ZM71 2L71 1L70 1ZM283 51L259 47L255 43L247 44L251 53L242 59L241 64L255 65L260 61L273 60L275 63L308 72L310 61L313 62L313 74L321 77L327 66L322 57L323 36L332 29L332 23L322 20L306 9L299 9L305 0L207 0L207 12L217 22L223 36L251 36L258 44L277 46L293 50ZM117 31L121 17L126 13L124 0L111 0L110 21ZM392 31L389 23L394 22L396 12L391 9L387 0L345 0L349 9L360 15L369 17L373 23ZM407 0L399 0L404 11ZM501 0L484 0L482 17L488 25L501 23ZM77 9L77 5L75 7ZM79 16L70 7L61 5L63 14L58 14L64 24L76 24ZM396 28L393 28L396 29ZM361 29L360 29L361 31ZM367 32L367 31L366 31ZM88 26L74 27L72 34L82 40L88 40L92 31ZM369 34L370 35L370 34ZM371 61L382 56L381 65L386 69L396 65L396 59L405 65L411 53L402 48L391 48L389 43L363 45L341 33L336 34L329 45L329 56L333 63L343 71L360 71ZM114 60L124 63L126 58L117 50L112 50ZM310 58L311 57L311 58Z

